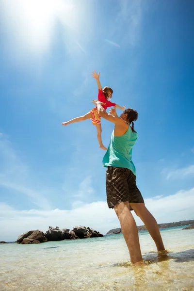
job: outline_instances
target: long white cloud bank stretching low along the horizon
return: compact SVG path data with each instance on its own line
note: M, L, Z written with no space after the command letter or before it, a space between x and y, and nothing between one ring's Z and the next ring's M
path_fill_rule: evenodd
M146 207L155 216L158 223L176 222L194 219L194 188L178 191L166 197L145 199ZM14 210L0 203L0 224L3 232L0 240L15 241L17 237L30 229L46 231L49 226L73 228L77 225L90 226L105 234L119 221L114 210L108 209L104 201L81 205L72 210ZM137 225L143 225L135 216Z

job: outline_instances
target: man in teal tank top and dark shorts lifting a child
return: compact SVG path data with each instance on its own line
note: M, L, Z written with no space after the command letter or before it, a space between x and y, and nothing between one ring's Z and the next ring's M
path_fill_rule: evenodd
M114 107L108 114L100 101L93 100L93 103L97 104L97 111L101 117L114 123L111 142L103 158L103 165L107 167L107 203L109 208L114 208L118 216L131 262L136 265L141 264L143 259L138 230L130 210L134 210L144 222L156 243L157 250L164 251L165 248L157 222L146 209L144 199L136 186L136 170L131 160L131 153L137 140L133 122L137 120L138 113L129 108L118 116Z

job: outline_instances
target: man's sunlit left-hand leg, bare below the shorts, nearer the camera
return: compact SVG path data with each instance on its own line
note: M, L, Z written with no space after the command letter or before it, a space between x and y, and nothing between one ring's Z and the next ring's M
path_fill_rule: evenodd
M139 236L135 220L129 210L129 202L121 202L114 206L121 224L122 232L127 243L132 263L142 261Z

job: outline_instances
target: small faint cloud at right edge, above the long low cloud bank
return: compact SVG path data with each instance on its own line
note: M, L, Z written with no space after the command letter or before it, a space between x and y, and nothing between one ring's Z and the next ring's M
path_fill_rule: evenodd
M194 165L190 165L186 168L174 169L170 171L168 169L164 169L162 173L166 175L167 180L168 179L184 179L188 176L194 175Z

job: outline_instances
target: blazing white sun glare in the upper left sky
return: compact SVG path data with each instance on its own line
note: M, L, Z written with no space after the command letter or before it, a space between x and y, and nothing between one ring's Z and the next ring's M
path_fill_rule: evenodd
M42 53L49 48L54 25L76 29L78 16L70 0L6 0L6 27L20 49Z

